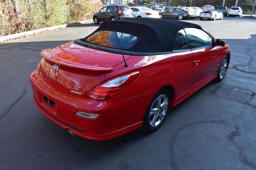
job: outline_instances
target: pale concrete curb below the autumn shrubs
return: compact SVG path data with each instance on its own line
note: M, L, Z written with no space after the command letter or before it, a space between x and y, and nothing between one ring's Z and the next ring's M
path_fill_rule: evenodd
M17 33L17 34L11 34L8 36L2 36L2 37L0 37L0 43L8 42L8 41L16 39L16 38L26 38L28 36L34 36L36 34L40 34L43 32L49 32L49 31L60 29L60 28L67 28L67 27L72 27L72 26L76 26L79 24L86 24L86 23L91 23L91 22L93 22L93 21L92 20L84 20L84 21L80 21L80 22L73 22L70 24L62 24L59 26L52 26L52 27L47 27L47 28L41 28L38 30L31 30L31 31L27 31L27 32Z

